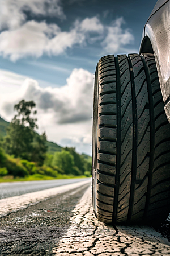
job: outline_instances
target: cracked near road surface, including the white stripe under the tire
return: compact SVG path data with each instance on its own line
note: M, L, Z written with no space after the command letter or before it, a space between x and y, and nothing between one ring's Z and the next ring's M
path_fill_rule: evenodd
M170 255L168 225L105 225L84 184L2 217L0 255Z

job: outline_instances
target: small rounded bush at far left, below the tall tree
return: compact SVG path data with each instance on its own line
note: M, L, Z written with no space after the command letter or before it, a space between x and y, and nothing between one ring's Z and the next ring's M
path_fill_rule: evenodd
M8 174L14 175L14 177L25 177L29 174L27 169L20 163L19 158L8 158L5 164Z

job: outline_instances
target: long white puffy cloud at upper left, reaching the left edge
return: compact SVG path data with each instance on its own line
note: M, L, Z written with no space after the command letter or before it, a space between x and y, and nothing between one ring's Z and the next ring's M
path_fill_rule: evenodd
M40 57L43 53L59 55L75 44L83 44L88 33L102 31L103 26L96 17L75 22L68 32L61 31L57 24L31 20L16 30L1 32L0 53L10 56L12 61L27 56Z

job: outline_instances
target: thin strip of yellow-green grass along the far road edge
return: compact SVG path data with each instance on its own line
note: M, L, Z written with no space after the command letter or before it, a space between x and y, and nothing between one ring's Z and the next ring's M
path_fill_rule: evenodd
M58 179L79 179L79 178L87 178L85 175L80 175L80 176L74 176L74 175L66 175L66 174L58 174L57 177L50 177L46 175L41 175L41 174L33 174L29 175L27 177L14 177L12 176L4 176L3 178L0 178L0 183L1 182L15 182L15 181L33 181L33 180L58 180Z

